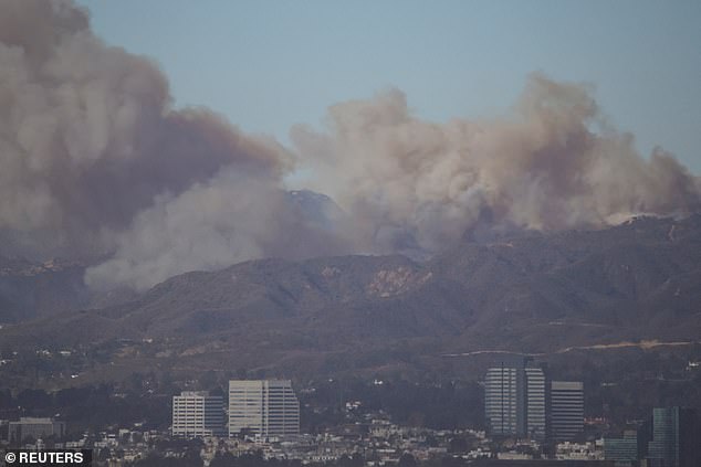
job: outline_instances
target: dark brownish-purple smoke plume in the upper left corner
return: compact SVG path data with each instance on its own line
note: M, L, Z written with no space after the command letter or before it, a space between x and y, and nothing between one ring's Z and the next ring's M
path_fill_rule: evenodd
M9 0L0 14L0 229L109 241L161 193L224 166L279 177L276 148L210 112L169 107L147 60L107 47L65 2ZM31 238L29 238L31 240Z

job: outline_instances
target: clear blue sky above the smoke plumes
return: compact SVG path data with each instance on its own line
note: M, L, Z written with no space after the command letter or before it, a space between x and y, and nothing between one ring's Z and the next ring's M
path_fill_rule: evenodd
M509 113L534 72L595 86L605 115L701 174L701 1L81 0L154 59L177 106L286 142L294 124L395 86L417 116Z

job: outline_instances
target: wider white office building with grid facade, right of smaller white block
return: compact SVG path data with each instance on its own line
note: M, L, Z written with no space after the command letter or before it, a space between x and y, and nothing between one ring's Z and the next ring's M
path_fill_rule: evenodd
M300 433L300 402L289 380L229 381L229 436Z

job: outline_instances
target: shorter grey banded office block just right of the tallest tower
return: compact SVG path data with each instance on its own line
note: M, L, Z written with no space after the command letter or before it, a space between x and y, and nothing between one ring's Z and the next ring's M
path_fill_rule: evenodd
M574 439L584 429L584 384L579 381L553 381L550 401L551 438Z

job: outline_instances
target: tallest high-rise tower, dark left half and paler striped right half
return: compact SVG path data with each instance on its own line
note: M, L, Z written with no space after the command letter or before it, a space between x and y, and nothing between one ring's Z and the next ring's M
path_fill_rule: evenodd
M546 434L546 376L525 359L506 360L486 371L484 412L490 433L496 436Z

